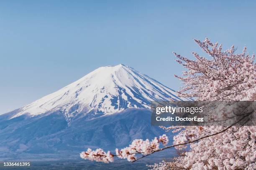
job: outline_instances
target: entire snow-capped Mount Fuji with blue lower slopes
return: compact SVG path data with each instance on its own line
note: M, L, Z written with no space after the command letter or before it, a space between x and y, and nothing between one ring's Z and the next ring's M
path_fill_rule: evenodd
M100 67L0 115L0 153L19 159L24 154L121 147L135 138L154 138L164 132L150 125L151 101L169 98L189 100L132 67Z

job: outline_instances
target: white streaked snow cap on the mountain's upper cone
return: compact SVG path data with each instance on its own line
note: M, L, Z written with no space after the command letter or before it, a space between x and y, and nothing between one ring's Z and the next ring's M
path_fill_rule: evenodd
M80 112L110 115L126 108L150 108L152 100L187 100L174 90L125 65L100 67L66 87L28 104L11 118L54 111L67 120Z

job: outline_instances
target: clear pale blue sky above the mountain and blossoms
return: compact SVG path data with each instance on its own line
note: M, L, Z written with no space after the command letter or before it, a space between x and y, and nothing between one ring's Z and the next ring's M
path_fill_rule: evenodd
M256 1L0 1L0 114L119 63L177 90L205 37L254 52Z

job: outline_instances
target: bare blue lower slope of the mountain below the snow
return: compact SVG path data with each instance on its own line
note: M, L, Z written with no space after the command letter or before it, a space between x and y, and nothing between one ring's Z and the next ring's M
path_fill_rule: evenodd
M136 108L94 119L80 117L70 125L61 112L10 120L1 115L0 161L79 159L79 153L88 147L114 150L134 139L153 139L165 133L150 121L150 110Z

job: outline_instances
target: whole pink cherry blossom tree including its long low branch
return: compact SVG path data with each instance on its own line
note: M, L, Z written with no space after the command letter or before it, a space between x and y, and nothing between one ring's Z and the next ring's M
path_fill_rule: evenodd
M189 60L174 52L177 62L187 71L183 77L177 76L184 86L179 90L181 97L195 97L199 101L254 101L256 100L256 64L254 55L235 53L234 46L222 51L222 45L212 43L207 38L195 42L210 56L202 57L192 52L195 60ZM244 114L239 121L253 115L256 117L255 102L252 111ZM224 107L221 112L227 112ZM238 123L236 122L236 123ZM161 127L166 131L178 133L173 144L162 135L154 140L133 140L131 145L121 150L116 149L115 155L102 149L92 151L90 148L80 154L81 158L98 162L113 162L113 158L127 159L134 162L155 152L168 148L190 150L174 158L171 162L163 161L155 165L147 165L154 170L254 170L256 169L256 126L172 126ZM160 147L161 146L161 147ZM141 156L137 156L141 155Z

